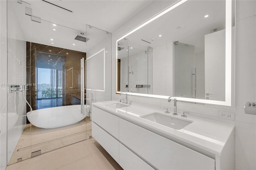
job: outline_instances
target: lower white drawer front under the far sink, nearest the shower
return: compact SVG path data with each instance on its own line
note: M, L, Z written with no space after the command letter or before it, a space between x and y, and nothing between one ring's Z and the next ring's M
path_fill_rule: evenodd
M92 122L92 136L119 163L119 142Z

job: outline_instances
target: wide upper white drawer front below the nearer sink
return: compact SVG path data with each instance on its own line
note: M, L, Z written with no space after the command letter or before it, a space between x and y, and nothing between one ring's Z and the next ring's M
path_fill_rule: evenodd
M119 140L158 169L215 169L214 159L123 119L119 120Z

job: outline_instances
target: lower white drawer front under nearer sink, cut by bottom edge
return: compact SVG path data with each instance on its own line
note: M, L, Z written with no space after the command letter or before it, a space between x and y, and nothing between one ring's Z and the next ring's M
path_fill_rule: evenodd
M119 165L124 170L154 170L136 154L119 143Z

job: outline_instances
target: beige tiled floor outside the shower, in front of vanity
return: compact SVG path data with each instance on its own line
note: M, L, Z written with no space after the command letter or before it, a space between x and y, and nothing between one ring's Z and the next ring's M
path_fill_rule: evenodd
M6 170L122 170L94 138L7 166Z

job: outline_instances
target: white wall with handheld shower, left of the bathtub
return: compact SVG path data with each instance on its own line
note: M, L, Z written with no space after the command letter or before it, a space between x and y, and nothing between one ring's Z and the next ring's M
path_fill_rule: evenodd
M1 169L6 167L6 163L10 160L14 148L20 139L26 125L26 117L18 117L16 114L16 93L7 93L6 83L26 83L26 42L22 34L19 34L19 25L17 25L16 16L13 15L11 8L8 8L8 39L6 38L6 1L1 1L1 97L0 97L0 111L1 111ZM8 42L8 43L7 43ZM8 54L6 53L8 51ZM20 61L24 59L22 64ZM7 76L8 75L8 76ZM22 94L20 97L20 104L18 113L20 115L26 114L26 102ZM8 125L8 126L7 126ZM8 135L7 135L8 134ZM8 144L7 144L8 143ZM8 148L7 148L8 146Z

